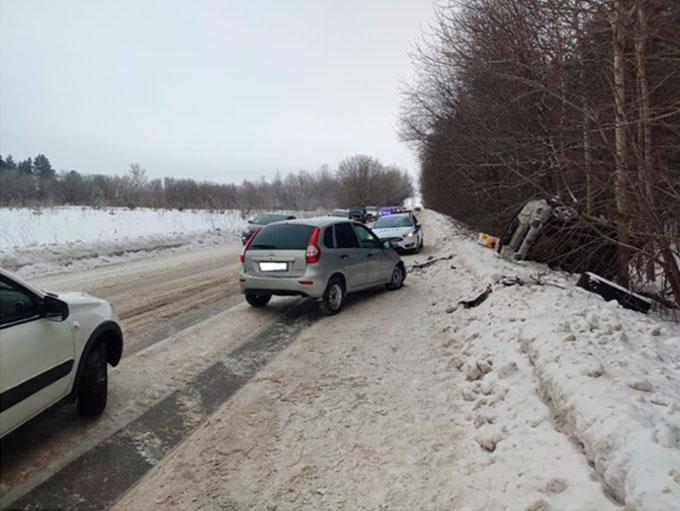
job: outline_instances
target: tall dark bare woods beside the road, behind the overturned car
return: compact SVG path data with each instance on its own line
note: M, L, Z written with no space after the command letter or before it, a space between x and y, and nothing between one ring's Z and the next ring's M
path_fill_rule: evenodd
M679 27L673 0L440 4L400 117L425 204L500 235L554 199L680 305Z

